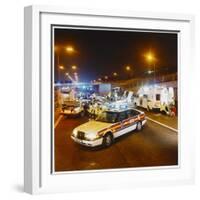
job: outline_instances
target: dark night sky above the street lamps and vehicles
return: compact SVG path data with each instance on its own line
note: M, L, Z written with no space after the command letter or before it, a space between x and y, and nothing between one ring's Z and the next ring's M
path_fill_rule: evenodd
M134 31L73 30L55 29L55 80L58 80L59 64L64 72L71 72L70 66L76 65L81 82L102 78L105 75L118 79L147 77L152 64L145 59L151 51L156 58L156 74L177 72L177 34L148 33ZM68 55L65 47L71 45L76 50ZM125 66L131 67L131 72ZM64 77L64 76L63 76Z

